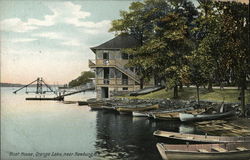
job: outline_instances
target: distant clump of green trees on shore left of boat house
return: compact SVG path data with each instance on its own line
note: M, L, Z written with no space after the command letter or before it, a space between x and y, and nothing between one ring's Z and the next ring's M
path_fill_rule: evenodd
M90 78L94 78L95 73L91 71L84 71L81 73L79 77L69 82L69 87L76 87L83 85L85 83L91 82Z

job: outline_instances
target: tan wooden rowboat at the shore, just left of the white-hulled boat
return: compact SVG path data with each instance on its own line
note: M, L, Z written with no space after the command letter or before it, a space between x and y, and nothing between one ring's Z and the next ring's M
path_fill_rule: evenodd
M180 113L192 113L192 114L197 114L197 113L203 113L205 112L205 109L195 109L195 110L185 110L185 111L174 111L174 112L165 112L165 113L153 113L151 116L154 119L159 119L159 120L180 120Z

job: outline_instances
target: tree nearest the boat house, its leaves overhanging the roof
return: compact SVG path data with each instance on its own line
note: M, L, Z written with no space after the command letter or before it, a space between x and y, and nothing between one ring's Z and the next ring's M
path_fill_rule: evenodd
M154 33L154 20L165 15L168 11L168 5L164 0L146 0L142 2L133 2L129 11L121 11L121 19L112 21L111 32L116 34L130 34L140 42L140 46L134 49L128 49L125 52L133 55L133 60L129 65L136 68L140 76L140 86L143 88L145 78L152 72L148 67L146 58L148 52L145 50L145 43L150 40Z

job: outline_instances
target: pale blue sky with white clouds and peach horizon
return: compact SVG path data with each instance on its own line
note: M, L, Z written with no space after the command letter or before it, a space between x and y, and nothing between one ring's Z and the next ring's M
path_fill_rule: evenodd
M90 70L90 47L133 0L0 0L1 82L66 84Z

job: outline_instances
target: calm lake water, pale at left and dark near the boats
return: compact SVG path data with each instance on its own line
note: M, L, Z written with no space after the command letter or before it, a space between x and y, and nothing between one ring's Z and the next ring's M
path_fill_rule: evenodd
M1 159L136 159L160 160L157 129L197 132L194 126L91 111L88 106L57 101L26 101L34 97L17 88L1 88ZM95 97L89 91L65 100Z

